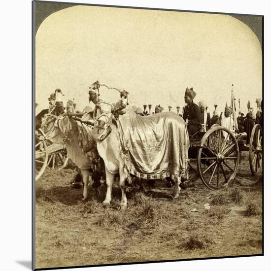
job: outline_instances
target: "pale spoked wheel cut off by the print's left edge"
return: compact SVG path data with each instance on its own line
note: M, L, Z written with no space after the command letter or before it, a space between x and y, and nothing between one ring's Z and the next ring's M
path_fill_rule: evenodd
M37 142L35 145L35 180L38 180L46 169L48 157L45 140Z

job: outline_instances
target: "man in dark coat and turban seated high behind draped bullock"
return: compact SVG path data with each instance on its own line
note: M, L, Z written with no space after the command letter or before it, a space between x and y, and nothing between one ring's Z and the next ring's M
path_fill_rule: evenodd
M197 93L193 91L193 88L186 88L184 94L184 102L187 103L183 111L184 121L188 121L187 130L189 135L194 135L202 128L202 114L200 107L193 102Z

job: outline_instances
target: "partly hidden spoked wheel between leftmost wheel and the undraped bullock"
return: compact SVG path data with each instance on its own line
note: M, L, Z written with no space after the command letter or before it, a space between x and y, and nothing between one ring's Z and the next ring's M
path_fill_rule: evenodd
M52 169L64 169L68 164L66 148L61 144L48 142L49 158L47 166Z

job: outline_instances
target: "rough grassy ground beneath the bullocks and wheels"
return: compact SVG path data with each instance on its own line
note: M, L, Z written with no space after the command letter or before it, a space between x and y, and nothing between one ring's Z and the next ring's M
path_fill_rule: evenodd
M113 187L110 206L89 184L72 189L76 172L46 169L36 182L36 268L262 254L262 176L253 186L248 157L228 189L211 191L198 179L171 200L159 181L144 193ZM103 190L103 188L101 188Z

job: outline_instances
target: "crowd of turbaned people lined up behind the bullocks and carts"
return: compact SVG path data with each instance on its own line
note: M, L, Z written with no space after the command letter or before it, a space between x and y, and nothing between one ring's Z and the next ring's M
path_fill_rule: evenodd
M94 91L93 95L96 93ZM218 124L222 127L226 127L232 132L235 133L246 133L247 144L249 143L249 138L255 124L262 125L262 115L263 112L261 108L258 109L257 113L254 114L253 108L249 109L249 112L244 116L244 113L239 112L237 116L237 122L233 117L233 109L226 104L224 112L219 113L217 109L213 111L212 117L210 116L210 112L207 112L208 106L204 101L199 102L199 105L196 104L193 100L196 97L197 93L193 90L193 88L186 88L184 101L186 105L183 107L182 114L177 112L180 117L184 119L187 123L187 129L189 135L194 135L198 132L206 132L208 131L212 125ZM66 107L64 107L62 98L64 94L60 89L56 89L55 93L52 93L48 98L49 101L49 113L60 115L63 112L67 113L75 113L79 111L75 111L76 103L73 100L68 100ZM92 100L91 100L92 101ZM257 99L257 102L259 99ZM257 103L258 104L258 103ZM149 116L151 111L151 105L143 106L142 110L140 107L133 106L133 109L137 115L140 116ZM169 111L171 107L169 106ZM84 109L85 110L85 109ZM159 114L164 111L164 108L158 104L155 106L154 112L152 114ZM177 111L179 111L179 107L177 107ZM225 132L224 132L225 133Z

